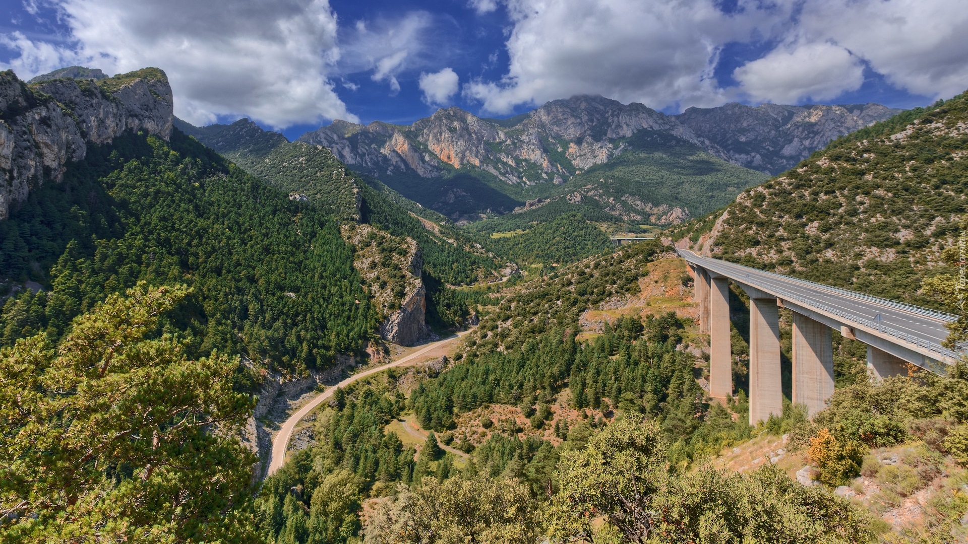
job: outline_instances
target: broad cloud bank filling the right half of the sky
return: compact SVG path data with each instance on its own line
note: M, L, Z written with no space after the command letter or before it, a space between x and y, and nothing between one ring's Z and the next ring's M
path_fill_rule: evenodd
M968 10L963 0L470 0L511 19L510 65L464 93L506 113L574 94L602 94L657 108L718 106L737 99L833 100L862 84L863 67L933 98L968 88ZM777 43L734 74L712 76L730 43Z

